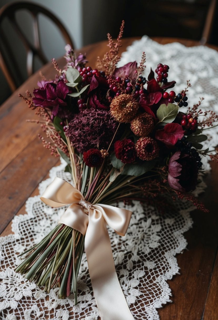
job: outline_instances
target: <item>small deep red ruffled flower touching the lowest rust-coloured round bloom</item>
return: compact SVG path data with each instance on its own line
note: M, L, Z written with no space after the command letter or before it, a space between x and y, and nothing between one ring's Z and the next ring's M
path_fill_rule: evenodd
M132 163L136 159L135 144L130 139L118 140L114 143L114 152L122 163Z

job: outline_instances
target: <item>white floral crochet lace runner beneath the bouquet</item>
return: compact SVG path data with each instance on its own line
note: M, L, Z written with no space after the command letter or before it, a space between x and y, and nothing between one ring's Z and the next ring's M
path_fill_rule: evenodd
M123 53L120 65L129 61L140 62L141 52L146 52L147 71L155 69L159 62L170 66L169 80L176 80L176 93L184 88L186 80L193 85L189 91L189 105L203 96L202 108L218 111L218 53L206 47L186 48L179 43L160 45L148 37L134 42ZM146 72L147 74L147 72ZM218 127L207 131L210 139L205 148L218 144ZM209 164L203 159L206 170ZM70 174L64 172L65 163L50 171L50 178L39 185L39 193L58 176L71 182ZM202 182L195 194L205 188ZM171 290L166 280L179 273L175 255L186 247L183 233L191 228L190 203L175 203L177 210L167 209L164 214L157 208L134 202L125 207L133 212L125 237L109 229L113 257L121 288L135 319L159 319L157 308L170 300ZM97 320L99 316L90 283L85 254L83 255L78 288L81 291L78 304L73 296L58 299L58 289L47 294L22 275L14 272L20 262L18 253L41 240L55 225L65 208L52 209L43 204L39 196L26 202L27 214L15 216L12 222L14 234L0 238L0 319L85 319ZM105 301L106 303L106 301Z

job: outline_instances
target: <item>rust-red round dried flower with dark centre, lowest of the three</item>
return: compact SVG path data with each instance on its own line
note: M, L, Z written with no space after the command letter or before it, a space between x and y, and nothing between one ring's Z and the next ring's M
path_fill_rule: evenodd
M140 138L136 142L136 155L141 160L151 161L159 155L157 142L150 137Z

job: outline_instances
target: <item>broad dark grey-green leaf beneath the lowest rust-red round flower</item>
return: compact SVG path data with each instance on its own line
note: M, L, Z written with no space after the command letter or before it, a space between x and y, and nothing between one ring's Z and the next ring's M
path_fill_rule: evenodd
M142 164L125 164L121 174L126 174L129 176L141 176L145 172L150 171L156 163L156 160L144 161Z

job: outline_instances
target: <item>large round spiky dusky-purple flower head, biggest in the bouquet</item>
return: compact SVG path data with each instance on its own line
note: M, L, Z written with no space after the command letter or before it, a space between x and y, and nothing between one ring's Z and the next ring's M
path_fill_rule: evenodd
M74 115L66 129L66 135L80 153L90 148L109 147L118 123L106 110L86 109Z

